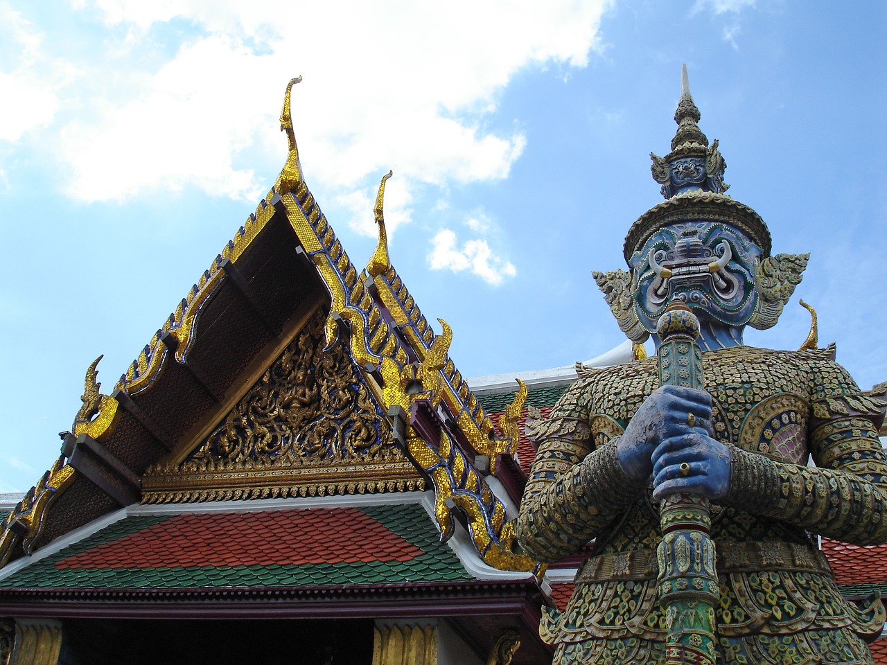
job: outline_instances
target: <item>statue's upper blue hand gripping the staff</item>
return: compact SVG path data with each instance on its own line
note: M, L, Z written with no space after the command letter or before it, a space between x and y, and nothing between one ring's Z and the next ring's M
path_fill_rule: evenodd
M694 388L663 386L644 400L625 427L616 443L616 457L629 477L645 481L654 473L654 454L663 442L691 434L707 436L710 429L711 395Z

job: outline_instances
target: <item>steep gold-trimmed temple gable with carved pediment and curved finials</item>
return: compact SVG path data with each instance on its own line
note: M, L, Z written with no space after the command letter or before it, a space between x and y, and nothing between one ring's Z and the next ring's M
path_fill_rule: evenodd
M4 520L0 565L139 501L433 486L445 537L457 526L452 501L484 560L538 569L512 551L518 497L484 475L514 450L516 428L495 434L448 355L449 326L435 334L391 264L388 176L374 207L380 245L367 270L349 260L302 176L289 113L295 82L281 113L289 154L274 187L110 395L90 365L62 455ZM404 438L389 412L420 435ZM483 473L475 458L486 460Z

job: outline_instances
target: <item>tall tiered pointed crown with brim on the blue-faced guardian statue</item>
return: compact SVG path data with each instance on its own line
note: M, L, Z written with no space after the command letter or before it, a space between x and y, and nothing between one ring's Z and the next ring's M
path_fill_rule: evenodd
M770 231L764 220L750 207L727 196L730 186L724 183L726 161L718 150L718 141L711 142L699 129L701 113L690 94L687 65L680 73L680 98L674 112L678 130L671 139L671 153L659 157L650 153L650 170L662 185L665 200L651 207L632 224L625 237L624 256L632 254L647 242L657 229L677 222L693 220L725 222L745 233L762 250L770 254Z

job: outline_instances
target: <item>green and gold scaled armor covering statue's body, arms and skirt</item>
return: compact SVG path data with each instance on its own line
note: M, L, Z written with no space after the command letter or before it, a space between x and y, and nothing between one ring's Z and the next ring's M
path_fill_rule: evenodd
M712 506L711 525L726 663L867 663L860 637L883 627L880 600L842 598L811 537L887 539L883 407L831 356L749 347L703 355L715 436L734 447L731 489ZM558 645L557 663L659 662L659 514L648 487L622 472L615 446L659 385L655 358L583 373L533 432L525 551L550 561L595 539L569 606L546 614L541 633Z

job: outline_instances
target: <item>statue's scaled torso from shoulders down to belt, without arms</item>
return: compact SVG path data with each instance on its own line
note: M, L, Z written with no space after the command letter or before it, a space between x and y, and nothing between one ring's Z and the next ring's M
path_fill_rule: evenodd
M706 389L714 398L715 437L780 462L806 464L810 402L842 389L838 366L822 360L826 360L824 352L799 354L749 347L706 353L703 371ZM580 399L587 401L595 447L622 434L640 404L659 385L655 358L593 372L587 380ZM713 518L712 533L718 540L808 542L802 529L778 520L722 511L718 505ZM655 548L658 539L658 512L648 492L624 520L598 538L596 552Z

